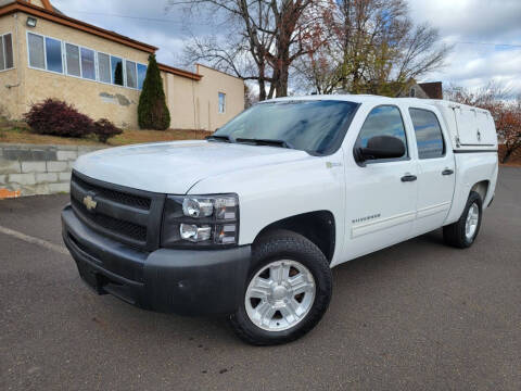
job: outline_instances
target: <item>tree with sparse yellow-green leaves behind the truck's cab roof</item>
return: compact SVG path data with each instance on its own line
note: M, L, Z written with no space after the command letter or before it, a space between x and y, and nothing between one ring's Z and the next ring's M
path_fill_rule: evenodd
M323 18L327 43L297 65L322 93L396 96L411 78L443 65L450 48L437 30L415 26L405 0L338 0Z

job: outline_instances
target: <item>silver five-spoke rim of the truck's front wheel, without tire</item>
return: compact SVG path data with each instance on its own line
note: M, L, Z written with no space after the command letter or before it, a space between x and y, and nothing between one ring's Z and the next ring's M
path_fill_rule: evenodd
M244 304L254 325L267 331L282 331L305 318L315 294L315 279L307 267L283 260L269 263L253 276Z

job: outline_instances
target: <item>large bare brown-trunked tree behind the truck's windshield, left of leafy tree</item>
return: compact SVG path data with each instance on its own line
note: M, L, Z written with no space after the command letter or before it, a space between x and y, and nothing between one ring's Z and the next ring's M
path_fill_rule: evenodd
M207 61L245 80L256 80L259 100L285 97L290 67L315 48L307 37L320 18L323 0L169 0L187 4L198 17L203 12L224 15L226 40L192 37L187 62ZM269 85L269 91L266 88Z

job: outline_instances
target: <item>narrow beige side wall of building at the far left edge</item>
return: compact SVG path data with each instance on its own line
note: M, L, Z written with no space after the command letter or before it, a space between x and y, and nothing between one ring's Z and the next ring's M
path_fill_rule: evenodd
M20 68L15 30L16 20L12 15L0 16L0 35L11 33L13 40L14 70L0 71L0 115L8 118L16 118L18 112L20 87L12 87L18 84Z

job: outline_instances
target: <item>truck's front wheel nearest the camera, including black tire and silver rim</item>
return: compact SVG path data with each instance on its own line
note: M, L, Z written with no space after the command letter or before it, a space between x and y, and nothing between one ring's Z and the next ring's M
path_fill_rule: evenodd
M230 315L233 331L254 345L275 345L301 338L320 321L329 306L332 276L328 260L312 241L289 230L264 236L253 247L252 255L243 300ZM284 275L287 279L278 279ZM258 294L263 299L252 297L258 293L258 283L263 285ZM295 294L298 290L303 293Z

